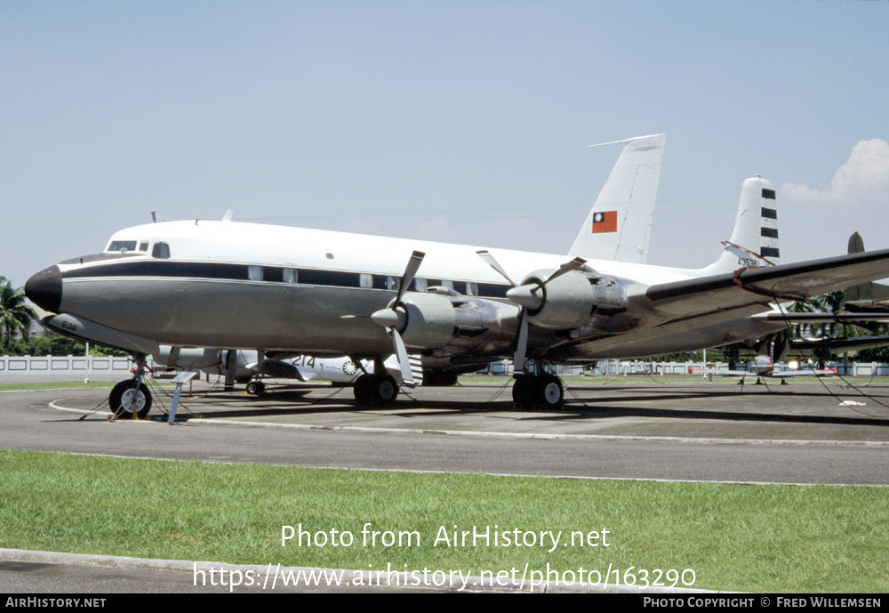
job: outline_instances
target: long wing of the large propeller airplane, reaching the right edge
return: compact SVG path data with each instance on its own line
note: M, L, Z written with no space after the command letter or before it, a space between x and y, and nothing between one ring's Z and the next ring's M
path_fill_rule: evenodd
M658 311L688 319L773 299L805 300L886 276L889 249L661 283L645 296Z

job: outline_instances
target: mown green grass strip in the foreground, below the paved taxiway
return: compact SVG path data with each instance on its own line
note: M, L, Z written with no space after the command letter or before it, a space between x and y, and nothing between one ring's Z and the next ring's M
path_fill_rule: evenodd
M886 488L412 474L11 450L0 450L0 475L5 548L475 575L525 564L605 574L611 565L621 577L629 570L637 584L644 570L653 581L660 569L661 583L672 585L667 570L691 569L694 587L707 589L889 589ZM294 536L282 546L284 526L301 527L312 544L304 536L300 546ZM491 540L473 544L473 527L489 530Z

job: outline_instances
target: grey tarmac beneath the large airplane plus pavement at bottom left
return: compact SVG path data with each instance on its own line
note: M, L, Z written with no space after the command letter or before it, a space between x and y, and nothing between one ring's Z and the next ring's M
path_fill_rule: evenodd
M270 386L254 397L196 383L173 425L162 417L171 388L154 391L156 416L138 422L108 419L108 390L2 392L0 447L570 479L889 485L889 385L853 385L581 379L566 383L563 410L527 411L513 405L508 382L488 377L421 387L393 407L358 407L348 388ZM861 404L841 404L848 401ZM0 551L4 591L101 585L95 567L82 583L59 584L78 577L76 565L9 552ZM123 580L121 569L108 572L109 585L127 592L186 591L191 580L151 578L170 572L159 569Z

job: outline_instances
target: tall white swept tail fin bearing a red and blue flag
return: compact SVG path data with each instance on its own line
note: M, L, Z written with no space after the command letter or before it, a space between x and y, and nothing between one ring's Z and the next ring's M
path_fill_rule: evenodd
M602 143L626 145L574 239L569 257L645 263L666 140L666 134L653 134Z

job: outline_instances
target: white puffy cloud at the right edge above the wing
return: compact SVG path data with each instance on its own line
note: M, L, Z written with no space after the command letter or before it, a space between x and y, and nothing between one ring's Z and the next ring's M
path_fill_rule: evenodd
M814 206L885 206L889 202L889 142L859 142L834 173L829 190L784 183L781 200Z

